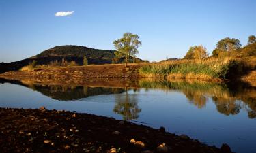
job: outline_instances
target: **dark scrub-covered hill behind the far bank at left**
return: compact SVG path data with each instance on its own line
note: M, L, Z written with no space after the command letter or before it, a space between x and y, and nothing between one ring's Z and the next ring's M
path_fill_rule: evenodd
M48 50L44 50L38 55L26 58L21 61L11 63L0 63L0 73L6 71L16 71L25 65L29 65L32 61L36 61L36 65L48 65L53 61L61 62L62 59L66 61L75 61L78 65L83 65L83 57L87 57L89 64L100 65L112 63L115 50L99 50L94 48L87 48L85 46L55 46ZM118 63L122 63L124 59L119 59ZM133 59L130 58L130 63ZM137 62L143 62L143 60L136 58Z

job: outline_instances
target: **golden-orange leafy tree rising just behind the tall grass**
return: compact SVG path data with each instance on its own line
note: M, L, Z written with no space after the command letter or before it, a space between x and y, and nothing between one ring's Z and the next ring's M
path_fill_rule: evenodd
M208 52L206 52L206 48L202 45L199 46L191 46L184 56L184 59L203 59L208 57Z

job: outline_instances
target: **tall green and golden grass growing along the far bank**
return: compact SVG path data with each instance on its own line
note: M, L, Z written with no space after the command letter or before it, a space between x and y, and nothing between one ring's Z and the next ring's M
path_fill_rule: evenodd
M237 64L231 58L182 60L144 65L139 69L139 73L144 78L226 78L230 68Z

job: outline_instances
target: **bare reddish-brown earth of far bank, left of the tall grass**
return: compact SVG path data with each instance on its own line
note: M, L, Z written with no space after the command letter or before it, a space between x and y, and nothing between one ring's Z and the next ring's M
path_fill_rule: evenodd
M138 78L140 65L88 65L76 67L46 67L31 71L11 71L0 74L2 78L33 78L38 80L74 80L81 78Z

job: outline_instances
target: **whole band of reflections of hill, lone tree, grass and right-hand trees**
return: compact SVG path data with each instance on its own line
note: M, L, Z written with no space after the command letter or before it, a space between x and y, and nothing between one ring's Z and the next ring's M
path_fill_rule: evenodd
M139 88L109 88L72 85L45 85L28 81L0 79L1 83L10 82L26 86L43 95L60 101L79 100L94 95L115 94L113 112L121 114L124 120L137 119L141 109L138 106L136 94L128 94L128 90L139 92ZM126 85L125 85L126 86ZM240 109L248 112L248 118L256 118L256 88L244 82L229 82L218 84L200 80L139 80L136 87L160 89L165 92L182 92L188 102L202 109L209 99L212 99L216 109L221 114L236 115ZM121 94L126 92L126 94Z

